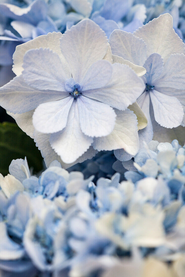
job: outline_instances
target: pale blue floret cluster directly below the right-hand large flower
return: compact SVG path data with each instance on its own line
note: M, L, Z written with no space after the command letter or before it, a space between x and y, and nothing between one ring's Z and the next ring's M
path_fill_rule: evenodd
M127 180L136 183L143 178L162 179L171 199L185 202L185 147L177 140L172 143L152 140L139 150L134 161L124 161L122 165L129 170L124 174Z

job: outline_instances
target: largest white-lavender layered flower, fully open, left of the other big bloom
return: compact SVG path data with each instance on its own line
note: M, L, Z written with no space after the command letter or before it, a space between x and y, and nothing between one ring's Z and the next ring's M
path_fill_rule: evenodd
M137 153L137 119L127 107L144 83L129 66L111 64L106 36L92 20L19 45L13 59L17 77L0 89L0 104L47 165L83 161L96 149Z

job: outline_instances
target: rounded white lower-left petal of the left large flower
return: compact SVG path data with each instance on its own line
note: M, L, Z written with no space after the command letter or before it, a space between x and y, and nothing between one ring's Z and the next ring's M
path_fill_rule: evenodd
M56 133L64 129L67 124L69 110L74 97L48 102L39 105L33 114L33 125L38 132Z

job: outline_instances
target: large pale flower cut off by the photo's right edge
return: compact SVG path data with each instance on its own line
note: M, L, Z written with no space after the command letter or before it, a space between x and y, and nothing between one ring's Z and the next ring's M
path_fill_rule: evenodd
M142 77L146 88L137 100L148 120L147 127L139 131L141 141L152 140L154 132L153 139L171 142L177 139L179 128L184 136L179 125L185 125L185 49L172 23L166 13L133 34L114 30L110 36L113 56L146 68Z

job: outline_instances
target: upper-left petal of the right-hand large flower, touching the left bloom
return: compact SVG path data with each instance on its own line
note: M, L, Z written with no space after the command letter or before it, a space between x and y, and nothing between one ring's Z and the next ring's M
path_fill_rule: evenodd
M146 60L146 44L131 33L114 30L109 44L113 55L120 56L136 65L142 66Z

